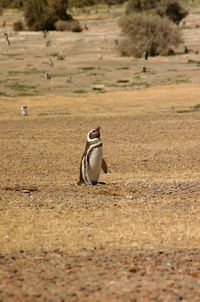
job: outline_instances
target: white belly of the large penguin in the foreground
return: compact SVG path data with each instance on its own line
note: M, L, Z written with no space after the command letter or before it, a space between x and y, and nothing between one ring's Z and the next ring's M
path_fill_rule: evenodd
M90 151L88 176L90 181L98 181L101 172L103 151L102 146L94 148Z

